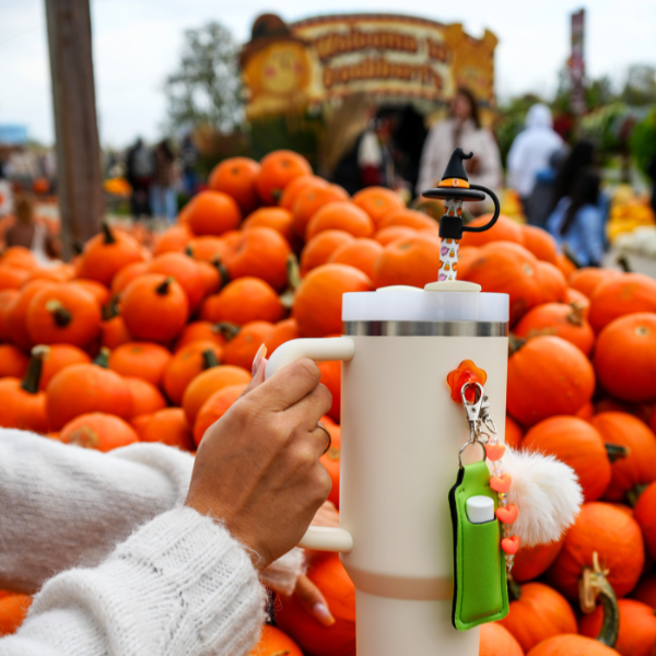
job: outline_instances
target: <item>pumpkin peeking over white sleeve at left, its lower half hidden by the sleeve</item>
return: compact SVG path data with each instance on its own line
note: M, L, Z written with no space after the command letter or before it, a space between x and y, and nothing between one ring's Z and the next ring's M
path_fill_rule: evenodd
M65 444L95 448L106 453L139 442L134 429L122 419L103 412L90 412L69 421L59 433Z

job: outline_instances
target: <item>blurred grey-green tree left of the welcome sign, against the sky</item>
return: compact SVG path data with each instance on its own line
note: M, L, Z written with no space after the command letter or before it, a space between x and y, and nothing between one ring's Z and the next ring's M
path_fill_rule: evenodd
M242 122L238 52L231 32L219 23L185 32L178 70L165 85L171 127L230 132Z

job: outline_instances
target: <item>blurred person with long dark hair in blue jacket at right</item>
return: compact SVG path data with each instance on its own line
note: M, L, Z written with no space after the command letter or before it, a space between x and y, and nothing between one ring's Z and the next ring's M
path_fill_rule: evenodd
M571 195L561 198L547 220L548 231L582 267L598 267L604 256L605 219L599 208L599 174L579 172Z

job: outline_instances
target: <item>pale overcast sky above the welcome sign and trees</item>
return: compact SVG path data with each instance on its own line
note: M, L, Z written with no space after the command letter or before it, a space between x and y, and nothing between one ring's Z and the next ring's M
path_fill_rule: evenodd
M550 94L569 55L572 11L585 7L591 77L620 80L630 63L656 65L654 0L92 0L93 56L101 140L120 147L137 134L155 139L165 119L162 92L175 69L183 32L207 21L247 40L263 12L286 21L336 12L408 13L460 22L472 36L499 37L501 98ZM309 8L309 9L308 9ZM0 0L0 124L26 125L31 138L54 139L44 0Z

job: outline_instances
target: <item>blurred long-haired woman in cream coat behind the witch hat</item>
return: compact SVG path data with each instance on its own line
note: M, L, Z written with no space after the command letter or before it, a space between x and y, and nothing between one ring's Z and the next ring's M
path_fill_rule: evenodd
M502 184L502 167L499 147L492 132L481 127L478 106L473 94L459 89L453 99L450 118L435 124L426 138L421 155L417 194L435 187L456 148L473 157L465 162L469 181L497 191ZM483 210L483 203L468 203L472 211ZM473 207L478 206L478 207Z

